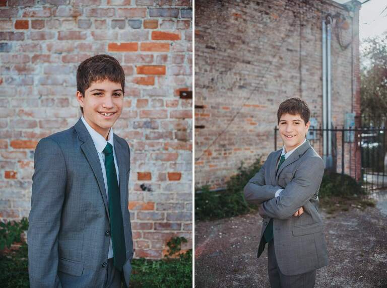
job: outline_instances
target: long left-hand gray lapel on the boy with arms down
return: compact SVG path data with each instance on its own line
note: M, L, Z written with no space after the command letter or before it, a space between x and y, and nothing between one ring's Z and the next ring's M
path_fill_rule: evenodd
M110 222L109 205L107 203L105 183L103 181L103 174L101 169L101 163L98 157L98 152L95 149L93 139L91 138L81 119L78 120L74 127L78 133L79 139L83 142L81 144L81 149L87 161L89 162L90 167L93 170L94 176L97 180L99 191L101 193L103 204L105 206L105 211Z

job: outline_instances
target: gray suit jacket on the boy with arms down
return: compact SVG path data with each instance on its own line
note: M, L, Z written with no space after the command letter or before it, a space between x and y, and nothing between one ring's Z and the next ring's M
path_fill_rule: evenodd
M123 273L130 280L133 240L128 211L130 149L114 134L126 245ZM98 152L82 120L39 141L29 214L31 287L103 287L110 221Z

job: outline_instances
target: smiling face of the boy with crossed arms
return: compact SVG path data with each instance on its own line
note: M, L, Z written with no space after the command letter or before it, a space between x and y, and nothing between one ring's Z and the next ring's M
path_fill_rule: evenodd
M282 140L285 144L285 151L289 151L296 148L305 139L305 135L308 132L310 121L306 124L302 120L301 115L284 114L280 118L279 131Z

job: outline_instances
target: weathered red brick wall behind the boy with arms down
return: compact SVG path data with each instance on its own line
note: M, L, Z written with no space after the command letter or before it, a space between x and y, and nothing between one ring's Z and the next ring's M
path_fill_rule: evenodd
M36 144L76 123L77 67L107 53L126 75L114 132L132 149L136 256L191 246L191 18L189 0L0 1L0 220L28 216Z

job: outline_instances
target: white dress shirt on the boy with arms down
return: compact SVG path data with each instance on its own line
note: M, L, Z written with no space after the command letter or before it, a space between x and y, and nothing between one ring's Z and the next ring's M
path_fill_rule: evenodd
M105 149L107 142L111 144L113 147L113 158L114 158L114 166L115 166L115 171L117 173L117 182L119 183L119 176L118 176L118 165L117 165L117 159L115 157L115 151L114 151L114 142L113 142L113 128L110 128L109 135L107 136L107 141L106 139L98 133L96 130L94 130L89 123L86 122L85 118L81 117L82 122L85 124L86 129L89 131L89 134L91 138L93 139L95 149L98 152L98 157L99 157L99 162L101 164L101 169L102 169L102 175L103 175L103 182L105 183L105 189L106 189L106 198L107 201L109 202L109 191L107 189L107 178L106 178L106 169L105 169L105 154L103 153L103 150ZM111 244L111 238L110 238L110 245L109 245L109 254L107 258L113 258L113 246Z

